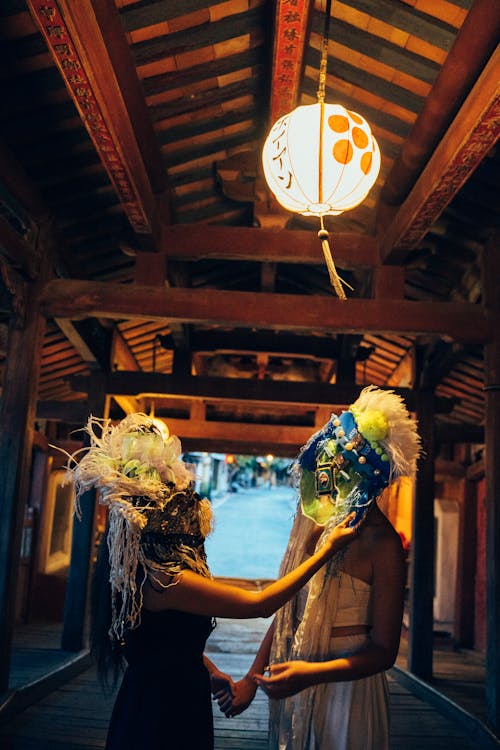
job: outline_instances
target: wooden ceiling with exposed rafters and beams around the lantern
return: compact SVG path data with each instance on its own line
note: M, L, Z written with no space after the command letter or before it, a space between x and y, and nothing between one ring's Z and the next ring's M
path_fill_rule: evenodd
M346 302L260 166L316 101L324 28L312 0L3 0L0 351L49 264L40 419L78 423L104 373L113 416L154 406L188 447L294 452L366 383L431 389L477 435L500 4L333 0L326 99L382 153L326 222Z

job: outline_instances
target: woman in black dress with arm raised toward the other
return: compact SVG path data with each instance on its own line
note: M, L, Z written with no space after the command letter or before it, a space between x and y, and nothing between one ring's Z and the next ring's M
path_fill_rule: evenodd
M116 682L106 750L212 750L212 691L232 682L203 654L215 617L268 617L354 538L353 516L321 551L266 589L214 581L204 539L210 503L194 491L178 438L144 414L91 418L90 448L70 469L78 498L109 508L92 584L91 651Z

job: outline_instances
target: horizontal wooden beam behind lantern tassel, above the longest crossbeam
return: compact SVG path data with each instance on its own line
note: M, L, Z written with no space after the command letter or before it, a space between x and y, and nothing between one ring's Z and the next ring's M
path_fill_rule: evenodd
M332 245L335 262L341 268L369 268L379 263L378 244L370 235L333 234ZM317 233L304 229L177 224L163 227L161 252L174 260L324 264Z

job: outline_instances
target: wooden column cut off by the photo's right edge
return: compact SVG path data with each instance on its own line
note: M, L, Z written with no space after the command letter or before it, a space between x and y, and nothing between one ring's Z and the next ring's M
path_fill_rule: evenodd
M500 232L483 258L483 303L500 309ZM485 347L485 474L486 474L486 716L500 730L500 331Z

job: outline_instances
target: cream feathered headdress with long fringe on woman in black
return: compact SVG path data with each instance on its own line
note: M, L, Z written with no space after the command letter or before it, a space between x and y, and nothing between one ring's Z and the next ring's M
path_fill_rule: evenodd
M181 458L179 438L161 420L137 413L114 425L91 416L85 430L90 447L69 457L68 475L78 517L80 497L91 488L109 508L110 636L121 640L140 623L148 575L189 568L210 576L203 542L212 511L194 492L194 472Z

